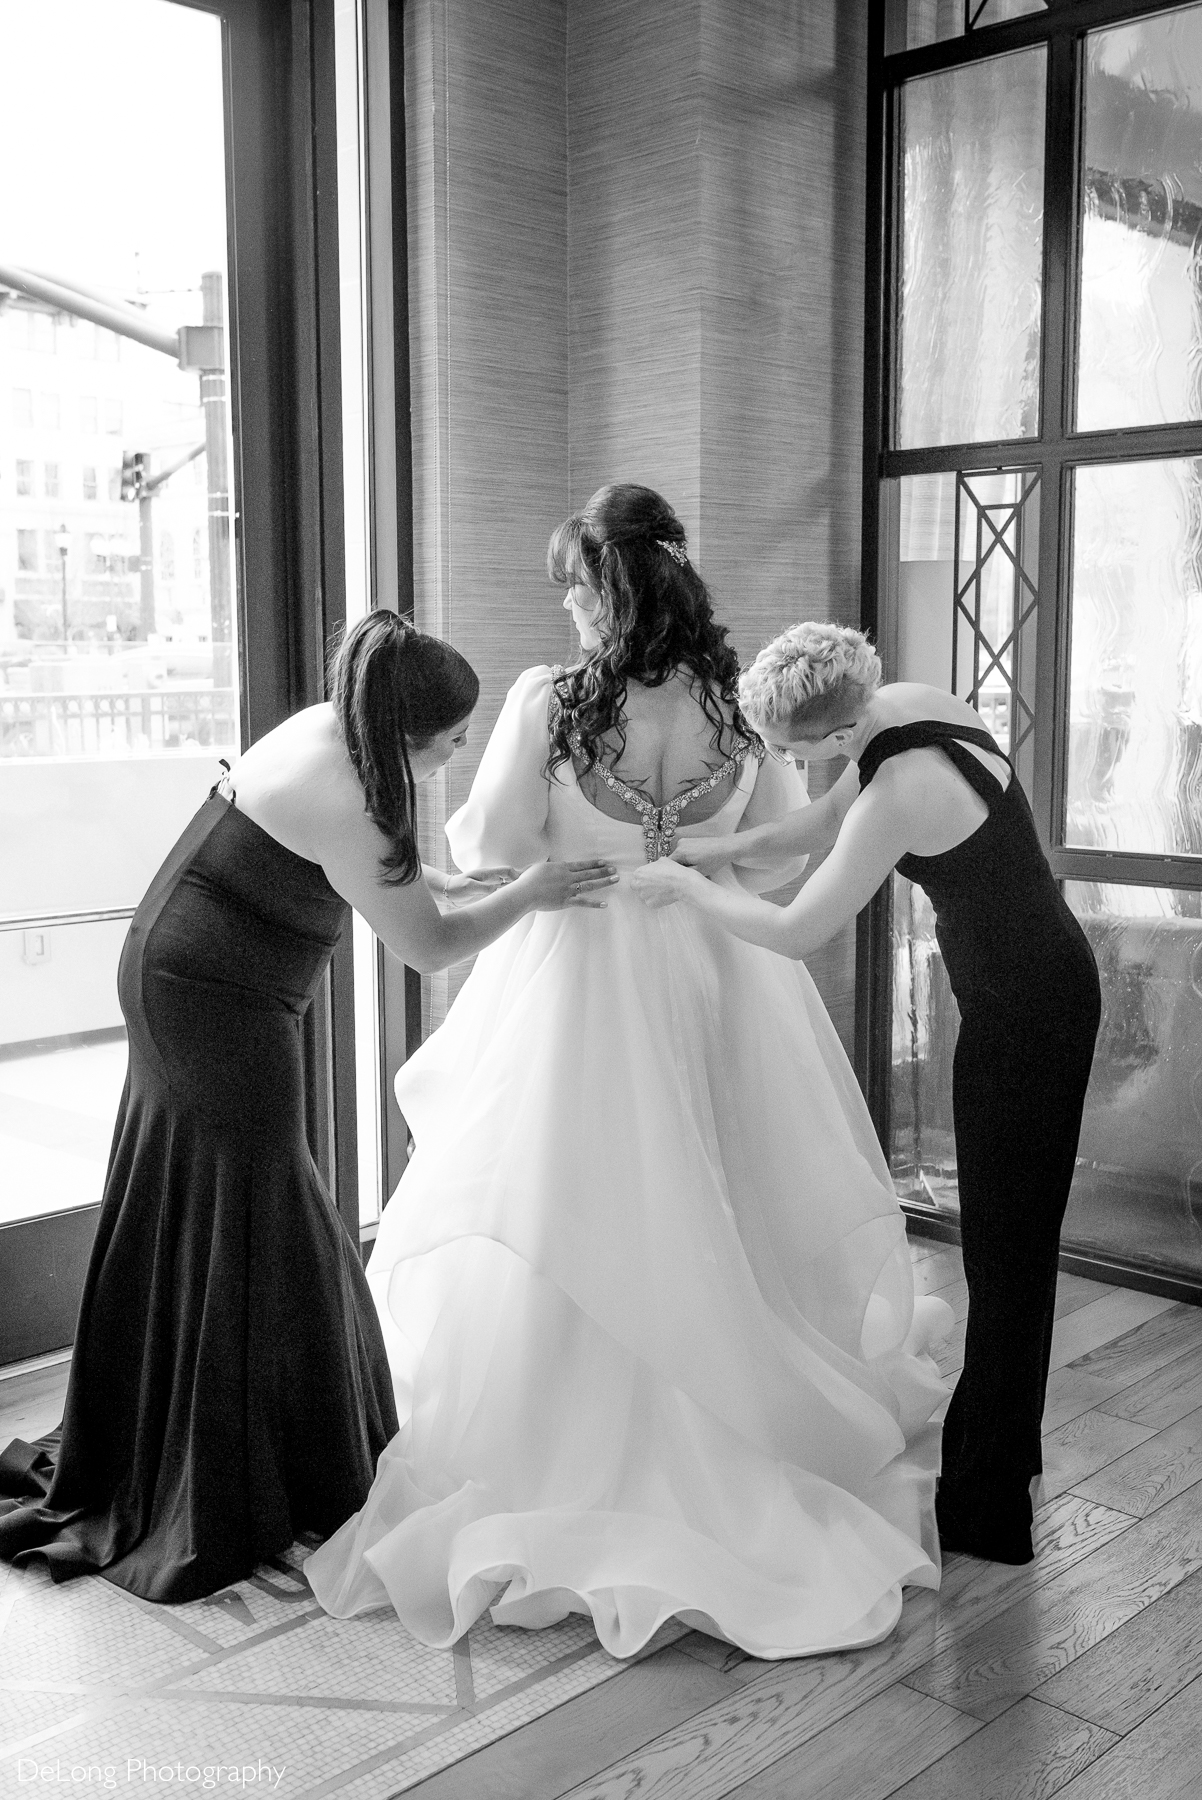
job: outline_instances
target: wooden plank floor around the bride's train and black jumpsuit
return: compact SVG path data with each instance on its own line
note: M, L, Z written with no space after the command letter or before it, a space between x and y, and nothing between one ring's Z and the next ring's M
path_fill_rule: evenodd
M952 1375L959 1251L912 1253L955 1309ZM693 1633L407 1793L1202 1796L1202 1309L1062 1274L1056 1310L1033 1564L948 1557L853 1654L759 1663ZM54 1424L63 1377L0 1382L0 1442Z

